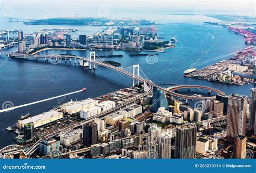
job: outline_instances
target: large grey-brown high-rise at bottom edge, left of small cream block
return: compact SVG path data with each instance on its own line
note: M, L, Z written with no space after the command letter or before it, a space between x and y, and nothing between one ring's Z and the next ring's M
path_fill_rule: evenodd
M197 127L186 124L176 128L175 158L196 158Z

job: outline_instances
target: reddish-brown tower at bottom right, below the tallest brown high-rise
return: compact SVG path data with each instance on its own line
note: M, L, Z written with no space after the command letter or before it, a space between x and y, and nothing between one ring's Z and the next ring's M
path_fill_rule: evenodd
M246 136L234 136L234 158L246 158Z

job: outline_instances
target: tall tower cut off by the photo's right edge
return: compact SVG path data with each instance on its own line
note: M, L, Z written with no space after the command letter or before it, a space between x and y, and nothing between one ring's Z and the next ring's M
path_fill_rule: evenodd
M251 89L250 104L250 129L253 131L254 139L256 139L256 88Z

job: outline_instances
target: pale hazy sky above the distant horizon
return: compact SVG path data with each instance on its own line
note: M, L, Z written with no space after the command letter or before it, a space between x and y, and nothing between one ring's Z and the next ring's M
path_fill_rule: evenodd
M86 0L0 0L1 10L11 6L12 17L46 18L46 17L71 17L79 13L79 17L90 14L98 16L100 6L105 6L110 11L109 17L119 17L119 13L185 13L194 14L199 8L205 15L210 14L239 14L255 16L255 0L253 1L86 1ZM40 14L38 12L45 12ZM72 14L72 15L71 15ZM82 14L82 16L81 16ZM112 16L111 16L112 15ZM32 17L31 17L32 16ZM44 17L45 16L45 17ZM1 16L2 17L2 16Z

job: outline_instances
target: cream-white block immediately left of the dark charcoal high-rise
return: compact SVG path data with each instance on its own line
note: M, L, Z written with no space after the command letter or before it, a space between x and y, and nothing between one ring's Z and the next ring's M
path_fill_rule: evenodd
M60 145L64 147L71 146L73 143L83 139L83 129L78 128L67 134L60 134Z

